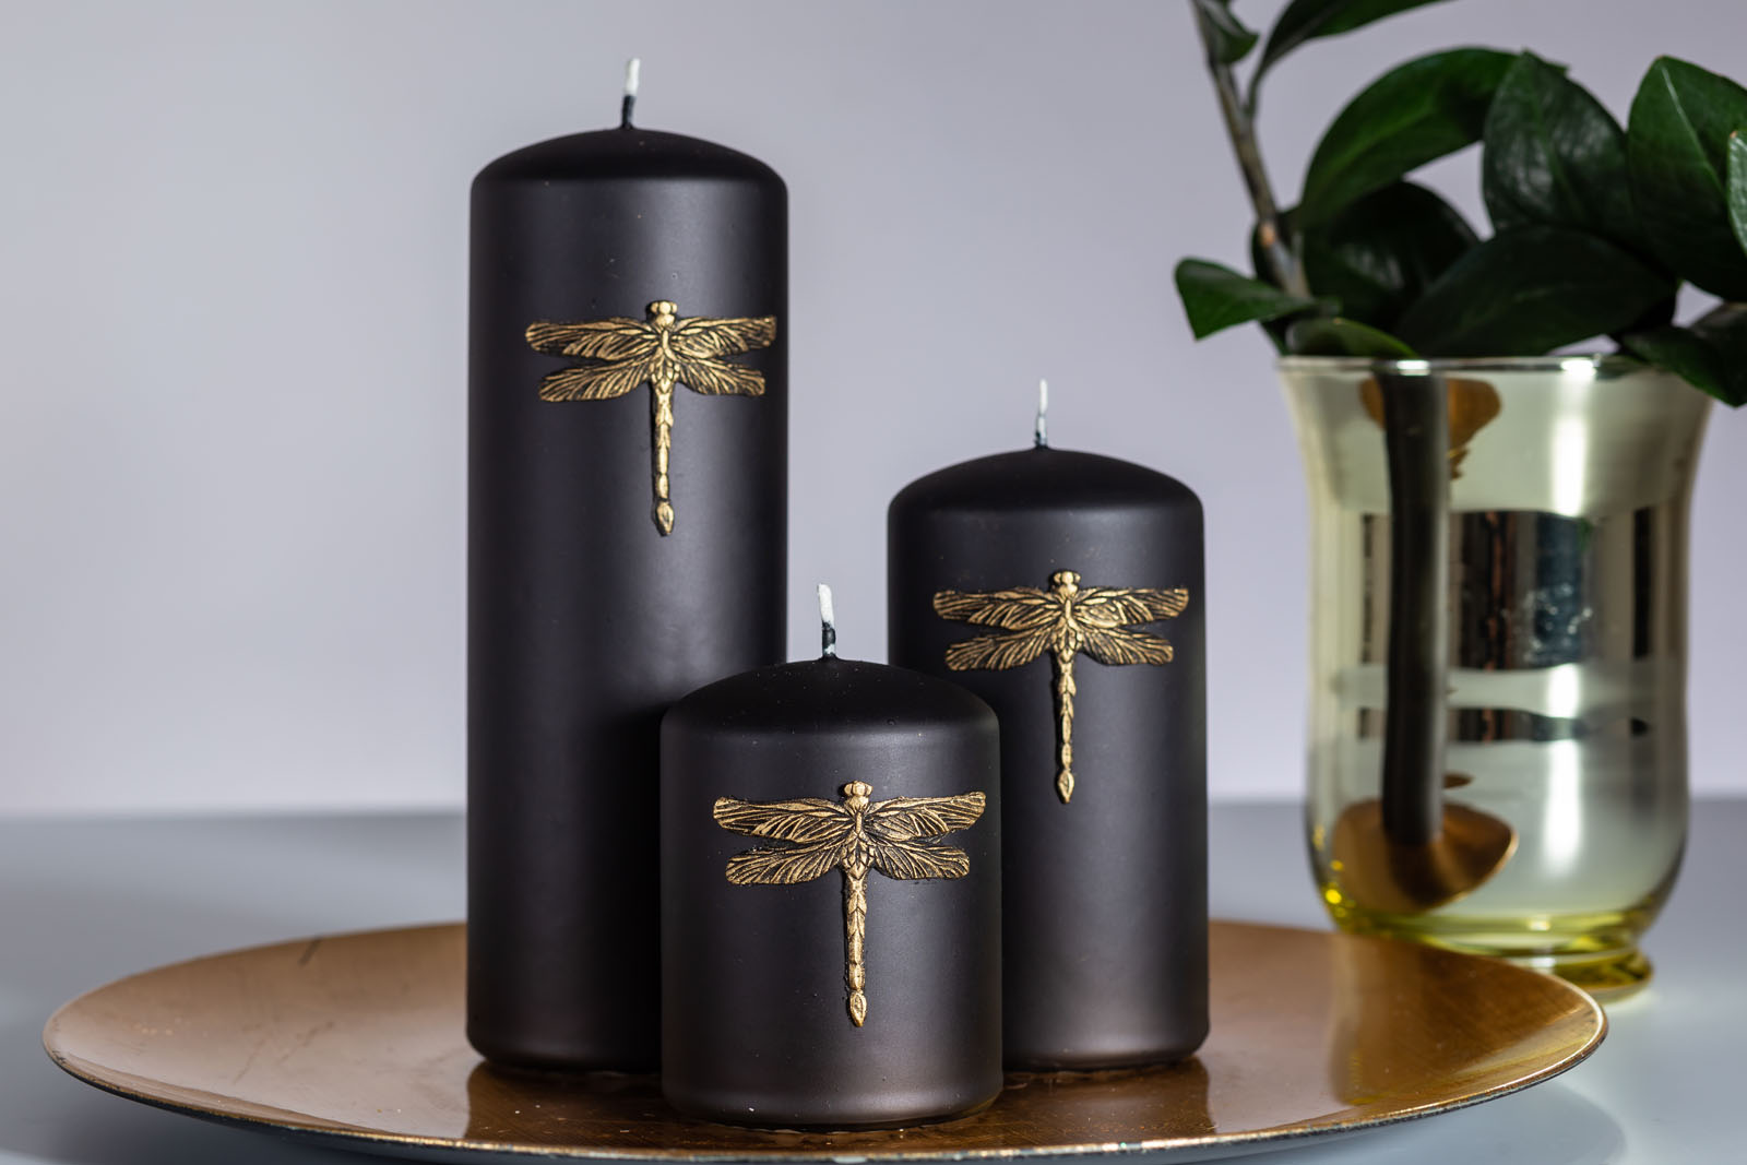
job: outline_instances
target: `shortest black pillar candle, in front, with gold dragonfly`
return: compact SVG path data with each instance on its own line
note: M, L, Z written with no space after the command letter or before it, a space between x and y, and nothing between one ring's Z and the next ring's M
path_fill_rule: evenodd
M828 650L830 650L830 639ZM662 723L662 1092L753 1125L910 1125L1001 1090L998 727L835 655Z

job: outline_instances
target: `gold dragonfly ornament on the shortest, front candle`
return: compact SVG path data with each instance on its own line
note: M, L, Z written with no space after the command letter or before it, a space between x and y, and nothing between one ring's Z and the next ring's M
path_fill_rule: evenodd
M889 879L963 879L971 859L963 849L917 838L968 830L982 817L982 793L957 796L893 796L874 802L874 786L851 781L844 800L807 796L793 802L716 800L716 824L734 833L767 837L784 845L763 845L728 859L735 886L797 886L844 873L844 980L849 1018L861 1027L868 1017L867 933L868 873Z

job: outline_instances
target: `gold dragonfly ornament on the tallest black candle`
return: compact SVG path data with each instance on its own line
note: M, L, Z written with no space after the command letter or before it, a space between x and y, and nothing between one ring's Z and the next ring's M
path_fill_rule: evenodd
M655 527L673 533L667 459L673 451L673 386L706 396L763 396L763 374L728 363L776 341L776 316L755 320L680 318L673 300L657 299L648 320L615 316L585 323L528 325L528 344L550 356L597 360L559 369L540 383L540 400L611 400L643 384L650 400L655 456Z

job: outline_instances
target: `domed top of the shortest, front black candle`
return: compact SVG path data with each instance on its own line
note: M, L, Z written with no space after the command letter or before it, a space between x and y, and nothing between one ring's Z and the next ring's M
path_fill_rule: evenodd
M870 660L793 660L755 667L681 697L664 723L730 732L835 732L874 728L905 734L984 727L994 711L947 679Z

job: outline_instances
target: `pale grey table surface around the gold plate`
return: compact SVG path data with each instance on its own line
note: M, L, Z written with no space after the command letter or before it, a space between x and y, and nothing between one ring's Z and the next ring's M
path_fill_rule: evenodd
M1298 809L1212 812L1218 917L1326 926ZM1700 802L1686 868L1646 943L1656 980L1609 1010L1565 1076L1478 1107L1256 1165L1747 1162L1747 800ZM42 1051L47 1015L112 978L321 931L463 910L461 821L428 816L0 821L0 1165L341 1165L365 1158L100 1093Z

